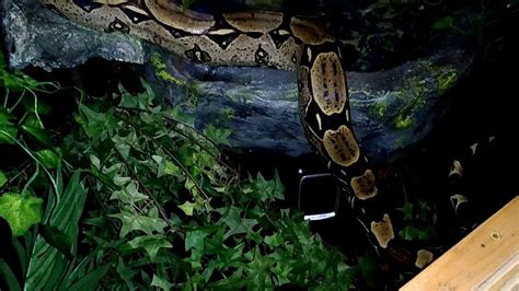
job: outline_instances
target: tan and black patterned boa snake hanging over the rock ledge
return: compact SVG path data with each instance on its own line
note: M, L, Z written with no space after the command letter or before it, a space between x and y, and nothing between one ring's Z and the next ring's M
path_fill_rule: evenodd
M420 268L432 259L432 253L425 249L403 253L390 216L380 210L383 201L374 173L350 127L341 49L322 26L275 12L203 14L182 10L171 0L41 1L74 22L129 33L194 62L297 71L307 139L350 194L349 202L371 244L393 257L406 254Z

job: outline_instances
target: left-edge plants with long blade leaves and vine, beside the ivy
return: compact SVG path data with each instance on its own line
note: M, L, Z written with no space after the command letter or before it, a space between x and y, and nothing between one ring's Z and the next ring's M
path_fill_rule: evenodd
M30 290L47 282L50 289L76 290L89 281L78 271L76 256L86 196L80 173L64 168L57 137L43 120L51 108L41 97L60 88L9 71L2 56L0 80L0 219L9 224L2 243L11 246L2 251L13 251L16 258L5 261L0 256L0 288L21 290L24 281Z

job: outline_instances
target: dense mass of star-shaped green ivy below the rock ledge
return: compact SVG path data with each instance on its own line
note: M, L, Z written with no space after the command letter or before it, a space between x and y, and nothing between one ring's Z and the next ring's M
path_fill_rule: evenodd
M208 127L203 135L153 98L149 90L123 93L103 109L82 103L74 117L85 136L69 147L83 153L95 177L89 188L102 201L85 220L88 242L109 247L103 261L118 266L104 288L351 284L343 256L299 213L276 207L284 198L277 174L241 178L216 147L228 143L229 130Z

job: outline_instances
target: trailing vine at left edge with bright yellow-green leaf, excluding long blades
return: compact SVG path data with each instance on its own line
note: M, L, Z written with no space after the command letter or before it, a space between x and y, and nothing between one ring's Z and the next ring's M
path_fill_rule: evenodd
M41 103L37 94L51 93L58 86L50 82L38 82L20 71L9 72L5 67L3 57L0 57L0 92L3 93L0 105L0 144L16 146L28 161L18 167L0 170L0 217L10 223L14 235L21 235L42 218L43 200L36 197L35 188L32 187L42 172L56 190L57 183L51 171L59 166L61 154L53 146L51 137L41 118L50 108ZM5 149L9 152L3 152L2 158L16 154L12 148ZM26 181L22 184L23 187L16 185L23 181Z

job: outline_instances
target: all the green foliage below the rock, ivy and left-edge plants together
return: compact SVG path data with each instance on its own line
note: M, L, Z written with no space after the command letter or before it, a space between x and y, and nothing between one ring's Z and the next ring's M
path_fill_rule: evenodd
M0 256L10 290L351 286L343 255L278 207L277 175L243 177L222 159L215 141L229 130L196 131L145 85L117 101L80 94L78 126L56 137L39 118L49 110L38 92L59 86L4 63L0 72L0 147L25 154L0 170L0 217L21 266Z

